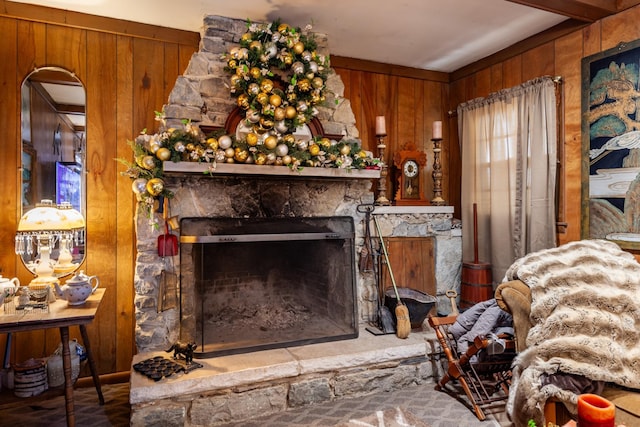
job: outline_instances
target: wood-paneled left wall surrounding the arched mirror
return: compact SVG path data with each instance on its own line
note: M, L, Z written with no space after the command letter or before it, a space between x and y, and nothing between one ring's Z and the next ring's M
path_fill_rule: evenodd
M82 20L77 14L0 3L1 274L17 276L23 283L31 279L13 253L21 215L20 85L35 67L59 66L75 73L87 93L87 257L82 268L99 276L106 288L88 332L99 372L127 371L135 352L135 199L130 179L120 175L123 166L114 159L131 158L127 140L144 128L157 127L154 111L167 102L176 78L198 49L199 35L162 28L149 34L148 26L123 22L120 28L129 32L124 35L111 30L118 27L114 20ZM44 9L51 12L44 14ZM46 23L41 16L74 25ZM101 29L87 29L91 26ZM130 35L136 32L140 35ZM80 339L79 330L72 329L71 337ZM57 330L17 334L11 361L47 356L59 342ZM4 337L0 348L4 349Z

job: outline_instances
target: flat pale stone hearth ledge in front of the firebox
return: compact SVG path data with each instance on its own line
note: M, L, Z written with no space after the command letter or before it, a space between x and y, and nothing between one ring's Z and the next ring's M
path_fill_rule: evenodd
M364 328L356 339L265 350L209 359L197 359L204 368L155 382L132 369L129 401L153 403L195 393L215 393L258 383L295 380L301 375L321 374L381 363L401 363L425 358L430 353L432 332L412 332L405 340L395 335L374 336ZM132 364L165 352L137 354Z

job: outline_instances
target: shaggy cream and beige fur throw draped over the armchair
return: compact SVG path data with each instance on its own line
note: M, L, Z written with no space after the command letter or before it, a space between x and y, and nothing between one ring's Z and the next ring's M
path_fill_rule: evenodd
M605 240L582 240L517 260L504 280L531 289L527 349L513 364L507 413L544 425L551 397L576 412L577 394L554 374L640 389L640 264Z

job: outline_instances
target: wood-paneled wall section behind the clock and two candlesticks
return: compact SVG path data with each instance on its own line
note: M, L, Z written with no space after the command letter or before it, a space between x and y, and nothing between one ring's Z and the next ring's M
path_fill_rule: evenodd
M387 176L387 198L390 200L393 200L397 185L393 154L408 142L427 152L423 188L425 197L433 198L432 127L434 121L443 121L443 198L449 201L451 192L446 185L451 174L447 166L450 153L446 126L448 75L342 57L332 57L331 66L344 83L344 97L351 102L363 146L375 156L378 155L375 118L386 118L385 161L390 166Z

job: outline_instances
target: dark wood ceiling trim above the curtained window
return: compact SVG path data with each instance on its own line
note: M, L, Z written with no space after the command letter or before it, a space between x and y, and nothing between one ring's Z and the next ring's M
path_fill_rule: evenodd
M563 21L546 31L542 31L525 40L502 49L501 51L496 52L493 55L487 56L479 61L459 68L458 70L451 73L451 81L455 82L457 80L471 76L480 70L504 62L514 56L521 55L524 52L530 51L531 49L534 49L545 43L549 43L553 40L584 28L587 25L589 24L581 21L576 21L574 19L567 19L566 21Z

